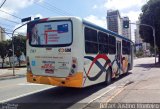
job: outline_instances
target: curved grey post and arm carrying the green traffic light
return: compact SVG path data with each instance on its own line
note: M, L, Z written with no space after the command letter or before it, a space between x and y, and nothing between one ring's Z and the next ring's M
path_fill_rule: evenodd
M148 25L148 24L137 24L137 23L130 23L130 24L135 24L135 25L141 25L141 26L146 26L146 27L150 27L153 31L153 39L154 39L154 55L155 55L155 64L156 64L156 55L157 55L157 52L156 52L156 35L155 35L155 28L151 25Z

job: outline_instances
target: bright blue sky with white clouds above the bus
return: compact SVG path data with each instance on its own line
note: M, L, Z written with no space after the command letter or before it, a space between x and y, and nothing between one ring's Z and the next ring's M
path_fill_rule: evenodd
M0 5L4 0L0 0ZM141 7L148 0L6 0L0 8L0 26L5 28L7 39L12 31L20 26L26 17L48 18L54 16L77 16L107 28L107 10L118 9L121 17L128 16L135 23L141 13ZM132 40L134 29L132 28ZM26 26L16 31L25 33Z

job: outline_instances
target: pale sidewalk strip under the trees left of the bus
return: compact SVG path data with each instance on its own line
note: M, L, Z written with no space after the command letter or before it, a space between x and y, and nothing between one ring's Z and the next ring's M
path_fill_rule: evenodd
M15 71L15 76L13 76L12 68L0 69L0 80L14 79L19 77L24 77L26 75L26 68L15 68L14 71Z

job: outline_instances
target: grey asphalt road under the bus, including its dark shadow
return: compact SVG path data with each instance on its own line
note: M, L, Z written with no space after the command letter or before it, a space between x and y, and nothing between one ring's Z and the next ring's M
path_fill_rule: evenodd
M119 87L146 78L147 70L151 69L146 63L150 63L151 60L154 59L136 59L134 69L128 75L114 80L109 86L97 84L77 89L31 84L27 83L25 78L2 80L0 81L0 102L3 106L18 105L18 108L25 109L86 108L92 102L101 102L102 98L106 99L106 96L111 98L112 92L115 93ZM146 70L146 74L140 73L143 70Z

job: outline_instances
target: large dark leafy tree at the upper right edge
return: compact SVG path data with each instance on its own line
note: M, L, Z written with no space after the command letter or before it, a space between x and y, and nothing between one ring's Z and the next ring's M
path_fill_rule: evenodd
M140 14L140 23L148 24L155 28L156 46L159 52L160 63L160 0L150 0L142 7L142 14ZM149 27L140 26L140 36L142 39L154 45L153 31Z

